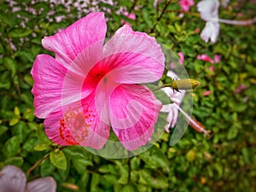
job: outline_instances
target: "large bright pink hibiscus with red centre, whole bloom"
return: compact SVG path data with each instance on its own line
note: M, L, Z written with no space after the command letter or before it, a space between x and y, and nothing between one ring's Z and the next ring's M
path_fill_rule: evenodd
M32 67L35 115L60 145L100 149L110 127L135 150L150 140L161 103L143 83L161 78L165 56L155 38L122 26L104 44L103 13L90 13L54 36Z

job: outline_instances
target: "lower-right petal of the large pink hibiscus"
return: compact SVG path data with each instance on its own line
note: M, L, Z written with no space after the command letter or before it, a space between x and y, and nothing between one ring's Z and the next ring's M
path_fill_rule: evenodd
M121 84L116 87L109 102L110 121L120 143L135 150L151 139L161 103L147 87Z

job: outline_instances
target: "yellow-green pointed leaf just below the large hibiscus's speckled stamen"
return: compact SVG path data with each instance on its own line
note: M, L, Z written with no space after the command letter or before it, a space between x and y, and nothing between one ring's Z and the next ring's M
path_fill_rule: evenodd
M52 164L62 170L67 169L67 159L65 154L59 150L59 151L51 151L49 153L49 160L52 162Z

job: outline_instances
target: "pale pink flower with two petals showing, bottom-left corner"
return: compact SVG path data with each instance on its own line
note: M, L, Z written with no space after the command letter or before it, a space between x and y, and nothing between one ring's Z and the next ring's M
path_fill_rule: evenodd
M42 177L26 183L26 175L16 166L4 166L0 172L1 192L55 192L53 177Z

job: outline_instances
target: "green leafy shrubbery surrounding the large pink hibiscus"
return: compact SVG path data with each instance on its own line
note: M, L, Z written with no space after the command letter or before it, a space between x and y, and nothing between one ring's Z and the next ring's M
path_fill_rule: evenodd
M52 176L57 191L256 191L256 26L222 24L218 42L206 44L196 30L205 25L196 6L181 17L174 0L161 18L165 1L158 9L153 0L119 0L115 6L90 1L84 9L50 2L0 1L0 168L19 166L28 180ZM183 52L189 76L201 81L193 93L193 115L212 131L210 137L189 129L170 148L165 133L147 152L124 160L49 142L44 125L34 121L32 63L36 55L50 54L41 45L44 36L93 10L105 12L109 37L127 20L135 31L150 33L175 53ZM122 15L125 10L135 13L136 20ZM220 7L219 15L244 20L255 16L255 10L252 1L231 1L226 9ZM207 69L211 63L196 59L205 53L221 55L214 72ZM235 94L240 84L246 89ZM206 90L212 94L203 96Z

